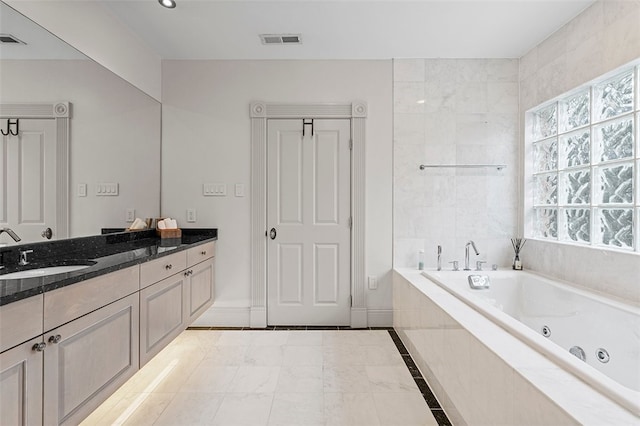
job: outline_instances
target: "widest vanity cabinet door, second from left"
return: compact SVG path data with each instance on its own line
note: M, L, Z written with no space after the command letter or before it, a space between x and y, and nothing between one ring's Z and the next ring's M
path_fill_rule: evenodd
M78 424L138 370L138 294L45 333L44 423Z

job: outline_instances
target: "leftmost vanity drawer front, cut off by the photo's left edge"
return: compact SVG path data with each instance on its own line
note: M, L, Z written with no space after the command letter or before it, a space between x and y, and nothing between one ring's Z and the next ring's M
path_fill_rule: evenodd
M41 294L0 306L0 352L41 334Z

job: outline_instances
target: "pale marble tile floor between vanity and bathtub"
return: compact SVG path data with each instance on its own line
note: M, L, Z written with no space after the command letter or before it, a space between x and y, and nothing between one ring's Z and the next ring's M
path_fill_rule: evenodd
M409 360L393 330L186 330L82 425L449 424Z

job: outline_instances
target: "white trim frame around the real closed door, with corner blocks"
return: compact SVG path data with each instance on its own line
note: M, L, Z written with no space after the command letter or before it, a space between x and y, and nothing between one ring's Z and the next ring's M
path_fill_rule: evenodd
M251 311L250 326L267 326L267 120L351 120L351 327L367 327L365 304L365 124L367 104L251 103Z

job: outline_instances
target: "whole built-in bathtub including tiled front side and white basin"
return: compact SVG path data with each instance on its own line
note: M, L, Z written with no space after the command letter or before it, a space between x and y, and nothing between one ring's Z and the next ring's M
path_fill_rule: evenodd
M640 424L638 307L512 270L472 290L469 274L393 273L394 328L453 424Z

